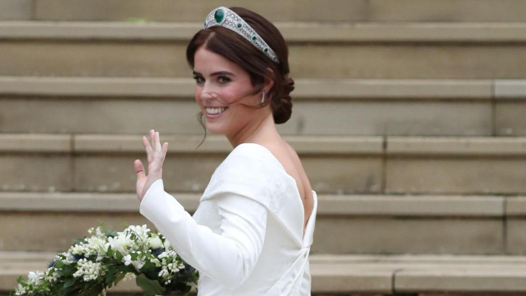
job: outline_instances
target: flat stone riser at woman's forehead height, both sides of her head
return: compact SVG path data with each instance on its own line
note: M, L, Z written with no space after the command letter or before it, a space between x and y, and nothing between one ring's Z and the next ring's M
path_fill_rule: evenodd
M186 43L5 41L0 75L189 77ZM294 78L504 79L526 73L521 43L309 43L289 50Z

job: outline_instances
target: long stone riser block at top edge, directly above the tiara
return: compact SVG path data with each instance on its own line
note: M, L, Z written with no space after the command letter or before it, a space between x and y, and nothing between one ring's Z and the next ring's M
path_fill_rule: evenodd
M271 21L346 21L360 18L363 0L329 0L325 3L306 2L297 5L294 1L271 0L243 2L242 6L269 18ZM147 18L155 21L204 21L206 15L218 6L239 6L235 0L206 0L184 3L161 0L145 3L140 0L94 0L64 1L38 0L37 19L123 21L128 18ZM330 9L328 9L330 7ZM60 13L62 12L62 13Z

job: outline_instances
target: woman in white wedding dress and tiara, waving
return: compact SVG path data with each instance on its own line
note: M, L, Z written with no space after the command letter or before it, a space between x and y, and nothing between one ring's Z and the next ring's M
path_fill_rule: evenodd
M287 59L278 29L239 7L214 9L190 41L187 60L206 129L234 147L193 216L164 191L168 143L154 130L151 144L143 137L148 176L134 163L140 213L199 271L199 296L310 295L317 195L275 126L291 115Z

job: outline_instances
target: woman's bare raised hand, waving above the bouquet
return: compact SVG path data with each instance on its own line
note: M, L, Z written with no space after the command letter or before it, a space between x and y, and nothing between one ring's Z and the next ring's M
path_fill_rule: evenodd
M163 163L168 151L168 143L165 142L162 146L159 142L159 132L150 130L150 142L146 136L143 136L143 145L148 156L148 175L144 171L143 163L140 160L135 160L134 168L137 174L137 198L142 201L146 191L151 184L163 178Z

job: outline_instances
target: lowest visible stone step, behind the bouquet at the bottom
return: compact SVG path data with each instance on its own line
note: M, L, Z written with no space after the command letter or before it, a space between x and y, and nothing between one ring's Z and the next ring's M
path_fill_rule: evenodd
M45 270L54 253L0 252L0 291L19 275ZM312 294L526 295L524 256L480 255L311 255ZM140 290L133 281L112 293Z

